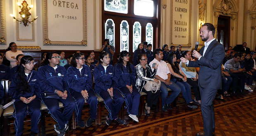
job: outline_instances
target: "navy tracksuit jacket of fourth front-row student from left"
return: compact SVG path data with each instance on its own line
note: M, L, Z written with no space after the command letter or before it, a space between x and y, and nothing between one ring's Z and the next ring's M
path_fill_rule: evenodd
M102 64L95 66L93 76L95 82L95 92L100 93L101 89L107 91L107 89L110 89L111 87L116 89L116 82L113 80L114 67L112 65L107 66L106 73Z

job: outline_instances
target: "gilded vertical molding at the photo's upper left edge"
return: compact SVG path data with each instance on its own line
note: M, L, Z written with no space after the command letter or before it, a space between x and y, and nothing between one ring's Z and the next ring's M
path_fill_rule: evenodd
M0 45L6 45L5 0L0 0Z

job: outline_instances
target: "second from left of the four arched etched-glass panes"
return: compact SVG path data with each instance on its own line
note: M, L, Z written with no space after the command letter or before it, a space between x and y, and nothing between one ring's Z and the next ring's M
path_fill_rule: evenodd
M129 52L129 25L126 20L120 24L120 52Z

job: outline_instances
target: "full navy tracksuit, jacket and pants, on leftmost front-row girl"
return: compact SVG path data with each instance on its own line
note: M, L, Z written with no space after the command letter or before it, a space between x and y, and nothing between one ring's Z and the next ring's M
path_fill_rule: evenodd
M38 78L37 72L31 71L28 76L26 76L26 80L29 85L29 92L18 92L17 89L22 90L22 85L19 84L18 77L19 73L15 73L13 80L9 87L9 95L15 99L14 102L14 112L12 116L14 117L14 129L16 131L16 136L21 136L23 133L23 126L24 126L24 118L26 117L27 113L31 115L31 131L33 133L39 133L38 123L40 121L40 107L41 102L39 98L39 91L40 88L38 87ZM26 104L20 100L20 97L29 98L36 95L36 98L31 101L30 103ZM28 108L27 108L28 107Z

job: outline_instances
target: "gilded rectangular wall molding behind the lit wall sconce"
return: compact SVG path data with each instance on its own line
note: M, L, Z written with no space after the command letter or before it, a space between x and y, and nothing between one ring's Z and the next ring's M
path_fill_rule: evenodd
M15 0L15 3L17 3L18 0ZM34 0L31 0L31 5L34 5ZM18 5L16 4L16 14L19 15L19 8L18 8ZM33 19L34 17L34 10L31 9L31 18ZM35 26L34 26L34 22L31 23L31 27L32 27L32 39L20 39L19 38L19 22L16 21L16 40L17 41L35 41ZM22 26L22 27L25 27L25 26ZM30 27L30 26L28 26Z

